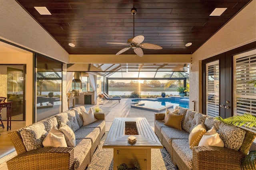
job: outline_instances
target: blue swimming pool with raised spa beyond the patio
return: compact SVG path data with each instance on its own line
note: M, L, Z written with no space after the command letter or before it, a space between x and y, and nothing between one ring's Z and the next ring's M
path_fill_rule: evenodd
M154 99L132 99L132 101L134 103L131 104L131 107L154 112L161 112L176 106L189 107L188 97L157 97Z

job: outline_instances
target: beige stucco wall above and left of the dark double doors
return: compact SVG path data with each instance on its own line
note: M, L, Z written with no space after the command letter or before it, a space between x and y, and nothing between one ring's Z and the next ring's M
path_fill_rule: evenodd
M201 61L214 55L256 41L256 0L221 28L212 38L192 54L190 64L190 109L196 102L196 111L201 112Z

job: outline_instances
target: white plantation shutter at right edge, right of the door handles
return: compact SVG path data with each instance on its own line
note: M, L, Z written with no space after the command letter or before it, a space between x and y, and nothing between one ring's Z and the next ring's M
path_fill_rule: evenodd
M256 50L234 56L234 115L256 116L256 87L248 84L252 80L256 80Z

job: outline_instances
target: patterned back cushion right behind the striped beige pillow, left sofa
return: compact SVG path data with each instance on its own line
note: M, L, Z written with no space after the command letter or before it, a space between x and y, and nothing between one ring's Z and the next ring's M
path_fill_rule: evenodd
M62 122L68 125L73 130L73 132L80 128L76 119L76 113L73 110L60 113L55 117L58 121L58 125L60 125L60 123Z

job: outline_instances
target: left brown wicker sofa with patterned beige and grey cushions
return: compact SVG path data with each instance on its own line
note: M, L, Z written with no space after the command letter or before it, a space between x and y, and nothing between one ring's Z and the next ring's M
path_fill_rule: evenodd
M84 170L92 159L100 139L105 133L105 114L94 113L94 123L83 126L84 106L49 117L20 128L8 135L17 156L7 161L9 170ZM50 129L60 123L68 125L75 134L75 147L43 147L42 141Z

